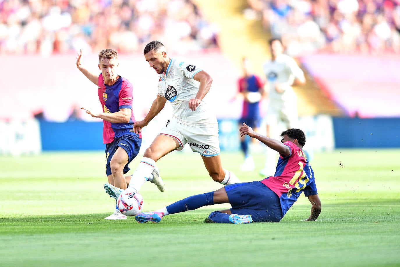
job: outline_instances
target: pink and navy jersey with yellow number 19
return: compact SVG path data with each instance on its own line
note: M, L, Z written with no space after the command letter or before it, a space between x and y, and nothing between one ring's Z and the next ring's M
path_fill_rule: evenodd
M289 147L290 155L279 155L275 175L261 181L278 195L283 215L296 202L302 191L306 197L318 194L314 171L304 152L290 141L284 145Z

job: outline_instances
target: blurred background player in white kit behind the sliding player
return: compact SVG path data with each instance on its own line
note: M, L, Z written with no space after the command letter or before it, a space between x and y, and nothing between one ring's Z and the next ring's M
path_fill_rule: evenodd
M266 115L266 134L268 137L278 136L282 127L295 128L298 124L297 96L292 85L306 83L306 78L296 61L283 54L284 46L278 38L269 41L271 60L264 63L263 70L267 79L266 93L269 102ZM278 154L271 149L266 151L264 169L260 175L274 175Z

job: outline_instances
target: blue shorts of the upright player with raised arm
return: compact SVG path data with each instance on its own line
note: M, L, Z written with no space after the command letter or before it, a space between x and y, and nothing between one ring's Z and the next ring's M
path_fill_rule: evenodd
M126 163L124 167L125 174L130 170L128 164L138 155L140 145L142 145L142 139L134 133L127 133L126 135L117 137L111 143L106 144L106 175L108 176L112 174L110 162L118 147L125 149L126 153L128 154L128 163Z

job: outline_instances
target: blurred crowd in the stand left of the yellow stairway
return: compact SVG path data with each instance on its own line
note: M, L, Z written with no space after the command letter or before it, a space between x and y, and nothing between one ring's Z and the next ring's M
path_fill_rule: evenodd
M217 32L191 0L0 0L0 53L196 50L218 47Z

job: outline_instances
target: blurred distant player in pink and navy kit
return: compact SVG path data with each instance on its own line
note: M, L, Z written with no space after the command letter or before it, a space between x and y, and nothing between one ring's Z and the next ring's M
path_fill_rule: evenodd
M260 127L261 114L260 114L260 100L264 93L264 83L261 78L252 74L251 62L248 58L242 59L243 76L238 81L238 94L242 96L242 116L239 119L239 127L243 122L255 130ZM240 149L244 154L244 163L240 166L241 171L253 171L254 161L250 155L250 138L244 135L240 138Z

